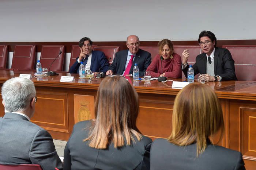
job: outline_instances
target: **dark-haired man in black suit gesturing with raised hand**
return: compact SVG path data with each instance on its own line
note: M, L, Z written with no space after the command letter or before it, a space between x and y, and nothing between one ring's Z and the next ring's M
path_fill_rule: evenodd
M203 73L200 78L205 81L237 80L234 60L227 49L216 47L217 38L211 31L202 31L198 38L204 53L197 55L196 63L192 66L194 74ZM189 51L182 53L182 71L187 77Z

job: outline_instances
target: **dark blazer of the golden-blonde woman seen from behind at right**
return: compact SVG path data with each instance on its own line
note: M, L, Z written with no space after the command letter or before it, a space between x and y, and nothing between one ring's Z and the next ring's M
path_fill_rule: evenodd
M242 154L210 142L196 157L196 143L177 146L166 139L156 139L150 151L151 170L245 170Z

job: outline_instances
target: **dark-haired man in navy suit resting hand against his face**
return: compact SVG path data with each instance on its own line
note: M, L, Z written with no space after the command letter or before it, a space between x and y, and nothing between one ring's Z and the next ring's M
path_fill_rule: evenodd
M94 76L98 72L106 73L109 66L108 60L103 52L93 51L91 49L92 44L93 42L88 37L80 39L79 48L81 53L79 57L76 58L76 62L70 67L69 73L79 73L79 66L81 62L83 62L85 70L91 70L94 72Z

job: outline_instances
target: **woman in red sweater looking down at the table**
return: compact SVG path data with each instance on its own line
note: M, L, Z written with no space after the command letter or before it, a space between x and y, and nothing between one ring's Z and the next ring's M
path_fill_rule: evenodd
M173 43L169 39L163 39L158 43L159 54L155 56L152 63L148 66L147 71L151 73L151 77L169 77L181 78L181 57L177 53L173 53ZM160 56L163 56L163 75Z

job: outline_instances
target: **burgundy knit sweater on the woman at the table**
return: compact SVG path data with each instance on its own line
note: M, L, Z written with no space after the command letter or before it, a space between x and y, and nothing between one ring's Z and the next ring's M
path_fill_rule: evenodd
M147 71L151 73L151 77L159 77L162 74L160 55L156 55L151 64L147 67ZM181 78L181 57L177 53L173 53L172 59L163 59L163 73L165 77Z

